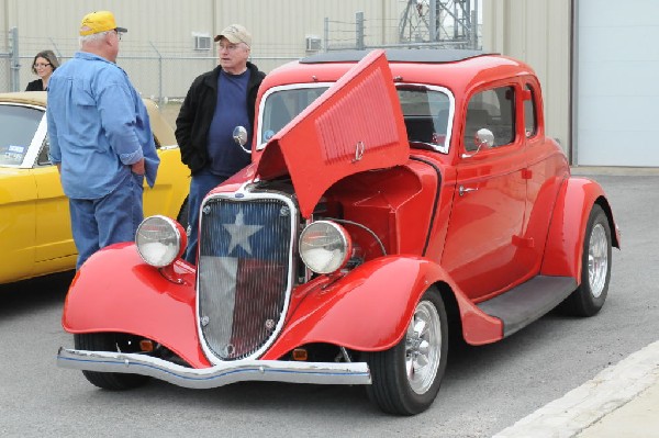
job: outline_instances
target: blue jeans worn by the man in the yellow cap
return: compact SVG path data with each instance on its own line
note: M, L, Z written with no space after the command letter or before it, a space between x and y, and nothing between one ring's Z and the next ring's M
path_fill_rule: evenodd
M99 249L135 239L137 226L144 218L143 182L143 176L131 172L103 198L69 199L71 232L78 248L76 270Z

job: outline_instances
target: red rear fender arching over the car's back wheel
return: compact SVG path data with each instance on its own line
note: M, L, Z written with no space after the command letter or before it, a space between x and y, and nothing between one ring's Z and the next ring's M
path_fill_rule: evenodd
M569 178L561 187L554 209L541 274L572 277L580 282L585 227L595 203L600 203L608 215L613 245L619 247L619 234L604 189L585 178Z

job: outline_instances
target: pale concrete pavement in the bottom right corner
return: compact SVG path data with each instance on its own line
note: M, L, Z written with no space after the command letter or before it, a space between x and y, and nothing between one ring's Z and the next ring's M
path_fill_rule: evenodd
M659 341L611 366L493 438L659 437Z

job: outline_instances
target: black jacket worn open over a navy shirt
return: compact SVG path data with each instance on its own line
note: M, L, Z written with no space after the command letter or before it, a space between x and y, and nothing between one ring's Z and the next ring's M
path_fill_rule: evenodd
M217 66L192 81L176 119L176 139L181 149L181 160L192 173L209 164L206 145L217 102L217 77L221 68ZM254 126L256 94L266 74L259 71L258 67L252 63L247 63L247 68L250 70L247 85L247 114Z

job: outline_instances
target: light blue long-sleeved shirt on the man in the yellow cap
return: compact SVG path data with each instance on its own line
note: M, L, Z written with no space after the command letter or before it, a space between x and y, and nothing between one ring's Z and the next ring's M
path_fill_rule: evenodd
M64 192L99 199L145 159L153 187L160 161L148 113L126 72L100 56L77 52L48 81L49 158L60 164Z

